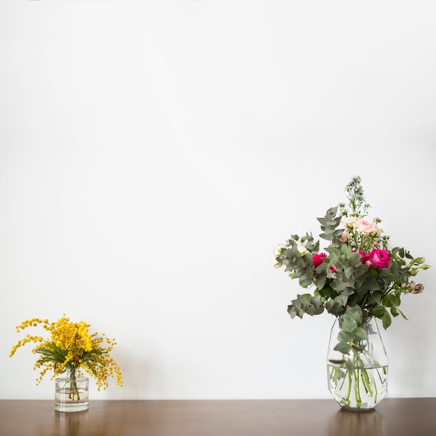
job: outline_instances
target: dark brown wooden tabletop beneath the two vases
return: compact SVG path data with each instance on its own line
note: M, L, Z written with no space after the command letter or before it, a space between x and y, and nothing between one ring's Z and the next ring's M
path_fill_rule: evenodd
M0 400L1 436L435 436L436 398L385 398L373 412L334 400Z

